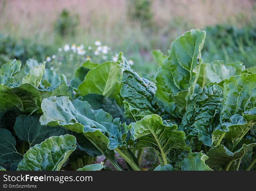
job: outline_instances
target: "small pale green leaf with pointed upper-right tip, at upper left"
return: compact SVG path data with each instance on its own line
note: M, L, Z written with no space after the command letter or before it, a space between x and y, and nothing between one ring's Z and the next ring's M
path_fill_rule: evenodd
M45 63L31 68L29 74L22 79L22 84L31 83L38 88L45 72Z

